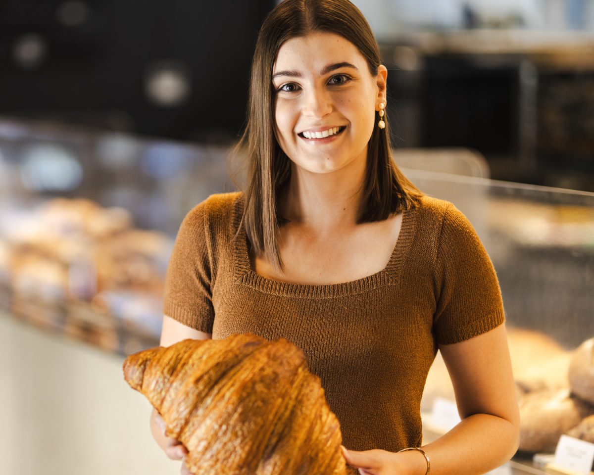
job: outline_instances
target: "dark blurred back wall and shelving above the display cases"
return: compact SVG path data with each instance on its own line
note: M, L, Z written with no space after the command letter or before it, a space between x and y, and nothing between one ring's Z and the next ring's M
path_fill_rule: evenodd
M230 144L275 2L2 0L0 113ZM592 0L365 0L397 147L471 147L492 177L594 191Z

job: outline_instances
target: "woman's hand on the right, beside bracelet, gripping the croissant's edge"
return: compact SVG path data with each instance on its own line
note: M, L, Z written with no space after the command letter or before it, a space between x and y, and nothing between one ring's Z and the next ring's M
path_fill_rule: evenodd
M420 465L421 460L417 460L414 458L414 454L410 454L409 452L394 453L379 449L357 452L342 447L342 453L345 456L346 463L358 468L361 475L412 475L425 473L422 465ZM424 460L422 462L425 464Z

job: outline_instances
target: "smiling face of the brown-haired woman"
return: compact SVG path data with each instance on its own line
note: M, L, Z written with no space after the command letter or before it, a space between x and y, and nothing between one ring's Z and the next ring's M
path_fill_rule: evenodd
M312 173L365 163L387 70L372 76L353 43L334 33L287 40L273 66L276 138Z

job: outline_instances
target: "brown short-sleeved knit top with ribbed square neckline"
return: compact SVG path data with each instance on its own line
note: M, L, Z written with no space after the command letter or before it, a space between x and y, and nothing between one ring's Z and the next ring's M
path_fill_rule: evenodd
M466 217L423 197L403 214L386 268L331 285L283 283L250 267L239 193L185 217L169 262L165 315L225 338L284 337L304 350L354 450L421 444L420 403L437 344L504 321L491 260Z

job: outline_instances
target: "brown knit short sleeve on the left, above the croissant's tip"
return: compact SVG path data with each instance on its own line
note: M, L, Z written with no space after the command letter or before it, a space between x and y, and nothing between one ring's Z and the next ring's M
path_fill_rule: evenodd
M165 280L163 313L198 331L212 333L212 256L207 202L191 210L179 228Z

